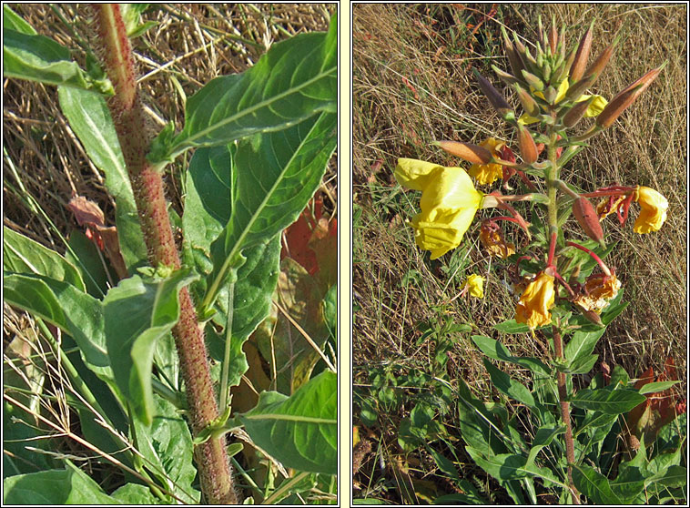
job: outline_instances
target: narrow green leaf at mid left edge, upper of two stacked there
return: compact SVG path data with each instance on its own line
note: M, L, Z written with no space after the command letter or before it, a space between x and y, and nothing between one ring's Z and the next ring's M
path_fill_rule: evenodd
M3 269L15 273L36 274L66 282L86 291L79 271L55 250L3 226Z

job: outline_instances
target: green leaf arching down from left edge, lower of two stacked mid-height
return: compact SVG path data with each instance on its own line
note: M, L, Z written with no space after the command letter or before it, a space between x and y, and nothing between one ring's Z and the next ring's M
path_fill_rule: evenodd
M38 275L5 273L3 289L7 303L71 335L86 365L96 374L109 371L103 307L99 300L71 284Z

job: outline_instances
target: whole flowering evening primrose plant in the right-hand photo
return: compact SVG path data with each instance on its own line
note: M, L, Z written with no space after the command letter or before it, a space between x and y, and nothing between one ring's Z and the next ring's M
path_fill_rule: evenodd
M438 259L460 246L472 224L480 222L482 249L505 264L506 283L516 297L512 319L495 328L524 333L528 340L543 337L551 347L552 358L546 364L512 356L489 337L472 336L489 359L532 371L529 389L484 361L496 389L519 402L518 409L485 404L464 381L460 384L465 452L520 504L537 503L544 490L557 492L561 503L577 504L665 503L685 498L680 452L685 439L678 432L649 450L654 442L642 436L642 442L638 439L628 447L624 460L616 454L616 436L631 432L619 417L628 414L630 422L631 412L648 407L645 394L664 393L669 400L664 422L685 411L685 402L675 400L669 391L677 377L633 385L616 367L613 373L595 375L588 388L573 389L573 375L593 370L597 341L626 306L622 281L614 267L604 263L615 248L605 240L608 216L615 214L624 226L636 203L639 212L633 229L644 235L661 229L668 213L666 198L645 182L593 189L568 183L568 163L583 152L587 140L612 127L664 67L654 68L608 100L588 95L620 41L615 36L590 62L593 29L594 22L572 48L555 26L544 30L541 19L533 47L503 30L510 69L492 68L517 97L523 109L520 115L475 70L483 94L515 131L515 152L507 141L494 137L479 144L441 140L435 145L470 163L470 168L410 158L399 159L395 168L395 178L403 187L421 190L421 211L409 222L417 246ZM498 180L500 189L485 190ZM588 239L571 238L572 233L565 232L570 218L583 233L579 236ZM516 224L517 234L509 236L502 222ZM475 277L479 276L470 276L463 291L472 294ZM517 425L523 417L530 422L530 439Z

